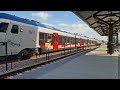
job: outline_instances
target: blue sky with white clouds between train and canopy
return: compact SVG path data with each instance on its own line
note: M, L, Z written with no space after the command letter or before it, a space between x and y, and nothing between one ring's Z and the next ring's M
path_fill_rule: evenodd
M0 11L0 13L8 13L21 18L36 20L63 31L107 41L107 37L100 36L72 11Z

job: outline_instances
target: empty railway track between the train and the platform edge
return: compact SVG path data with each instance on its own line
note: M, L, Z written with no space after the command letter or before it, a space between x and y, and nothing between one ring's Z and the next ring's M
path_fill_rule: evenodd
M36 58L36 56L33 56L30 60L34 61L35 63L32 63L32 64L28 65L27 61L30 61L30 60L24 60L24 61L26 61L26 64L24 66L21 66L19 68L11 69L11 70L0 73L0 79L5 79L7 77L14 76L14 75L16 75L18 73L22 73L24 71L31 70L33 68L37 68L37 67L40 67L42 65L53 63L53 62L55 62L57 60L61 60L63 58L69 57L71 55L75 55L77 53L82 53L82 52L87 53L87 52L89 52L91 50L94 50L94 49L96 49L96 48L92 48L92 49L76 49L76 50L74 49L74 50L71 50L71 51L66 50L66 51L49 53L49 56L46 56L48 53L47 54L42 54L40 56L38 55L37 58ZM20 61L20 62L22 62L22 61ZM25 63L25 62L23 62L23 63Z

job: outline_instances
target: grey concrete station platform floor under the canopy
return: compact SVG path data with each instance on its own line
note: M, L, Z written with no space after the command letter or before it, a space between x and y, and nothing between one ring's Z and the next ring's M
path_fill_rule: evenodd
M109 55L106 45L88 53L18 74L11 79L118 79L118 51Z

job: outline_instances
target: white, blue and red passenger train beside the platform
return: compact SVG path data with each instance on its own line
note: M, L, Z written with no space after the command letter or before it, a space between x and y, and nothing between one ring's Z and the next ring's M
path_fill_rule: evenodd
M31 56L47 49L96 45L97 41L75 35L41 22L0 13L0 42L7 42L7 55ZM0 43L0 56L6 55L5 44Z

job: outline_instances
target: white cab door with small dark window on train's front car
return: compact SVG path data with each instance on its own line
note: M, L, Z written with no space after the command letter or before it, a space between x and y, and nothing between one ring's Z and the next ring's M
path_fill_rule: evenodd
M19 25L10 23L6 40L8 44L8 55L11 53L17 54L21 50L21 37L19 32Z

